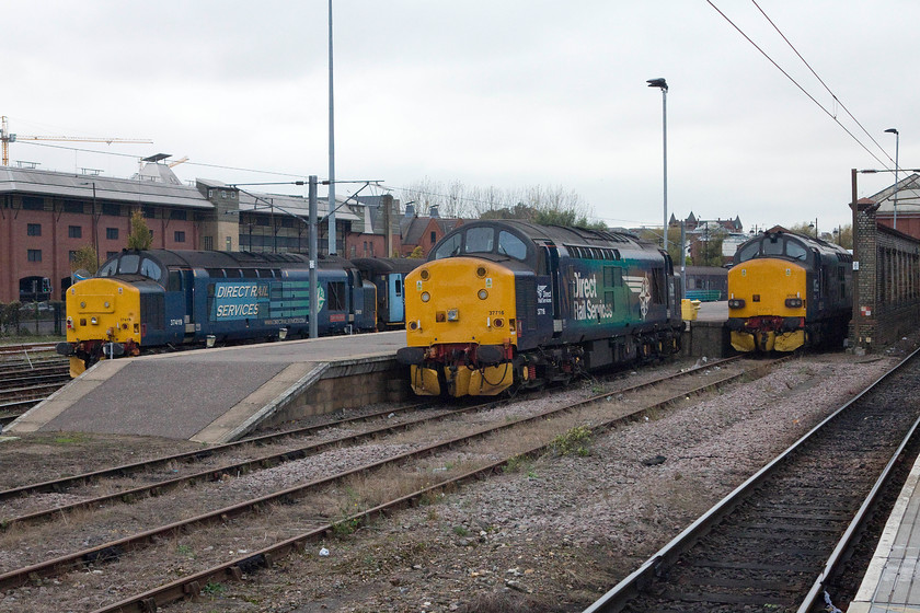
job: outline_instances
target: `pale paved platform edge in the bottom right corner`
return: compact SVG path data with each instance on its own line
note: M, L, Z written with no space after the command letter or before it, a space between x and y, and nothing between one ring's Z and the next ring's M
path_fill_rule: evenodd
M920 459L892 509L847 613L920 613Z

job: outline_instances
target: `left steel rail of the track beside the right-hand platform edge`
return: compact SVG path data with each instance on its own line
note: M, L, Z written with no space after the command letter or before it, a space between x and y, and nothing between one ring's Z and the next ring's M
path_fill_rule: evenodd
M885 381L888 377L898 372L908 361L913 359L920 349L915 350L904 360L898 362L895 368L876 379L871 385L865 388L862 392L853 396L843 406L835 410L828 417L823 419L818 425L812 428L808 432L802 436L792 446L785 449L777 458L771 460L767 465L760 469L757 473L751 475L741 485L736 487L731 494L725 496L722 500L716 502L709 511L703 513L693 523L687 527L680 534L671 540L664 547L658 550L647 560L645 560L636 570L631 572L622 581L617 583L610 591L605 593L601 598L595 601L590 606L584 610L583 613L616 613L622 611L628 601L639 595L649 585L655 577L660 576L665 569L671 566L686 551L688 551L695 541L706 532L709 532L715 524L728 516L735 508L744 502L744 500L770 475L773 474L778 467L783 464L789 458L796 453L808 440L821 430L827 424L837 419L843 414L852 404L856 403L870 391L874 390L876 385Z

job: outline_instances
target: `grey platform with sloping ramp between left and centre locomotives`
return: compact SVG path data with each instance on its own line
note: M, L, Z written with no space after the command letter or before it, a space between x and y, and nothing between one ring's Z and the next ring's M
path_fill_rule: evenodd
M256 426L409 395L405 332L103 360L3 429L221 443Z

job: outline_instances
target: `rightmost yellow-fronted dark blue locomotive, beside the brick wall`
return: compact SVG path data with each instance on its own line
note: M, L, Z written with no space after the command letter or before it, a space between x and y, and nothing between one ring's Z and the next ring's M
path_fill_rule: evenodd
M840 347L852 316L853 256L777 225L743 243L728 270L728 328L738 351Z

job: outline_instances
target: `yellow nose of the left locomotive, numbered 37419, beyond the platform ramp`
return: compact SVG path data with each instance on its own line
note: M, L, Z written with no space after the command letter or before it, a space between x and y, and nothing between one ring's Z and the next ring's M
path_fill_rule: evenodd
M67 290L67 344L70 375L78 377L90 362L101 359L102 346L140 345L140 292L107 278L82 280Z

